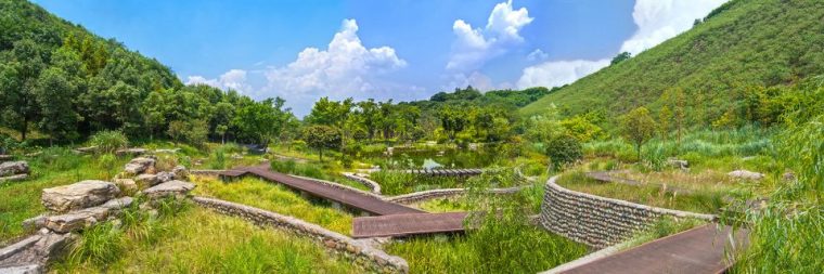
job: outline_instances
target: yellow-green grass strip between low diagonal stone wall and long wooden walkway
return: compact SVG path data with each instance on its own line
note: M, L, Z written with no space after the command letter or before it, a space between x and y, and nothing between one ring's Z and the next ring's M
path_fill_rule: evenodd
M292 216L345 235L352 227L352 214L335 209L321 199L308 200L297 193L275 183L256 178L223 183L217 179L195 177L195 195L210 196L240 203L272 212Z

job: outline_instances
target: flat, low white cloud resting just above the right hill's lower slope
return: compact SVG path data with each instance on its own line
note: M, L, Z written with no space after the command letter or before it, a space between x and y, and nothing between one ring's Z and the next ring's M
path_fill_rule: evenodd
M540 65L524 68L524 74L520 76L520 79L518 79L517 87L519 89L531 87L561 87L571 83L608 65L609 60L544 62Z

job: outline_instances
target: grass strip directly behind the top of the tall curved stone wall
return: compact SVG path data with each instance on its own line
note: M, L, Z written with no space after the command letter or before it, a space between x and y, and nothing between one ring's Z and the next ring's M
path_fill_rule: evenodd
M674 194L657 185L601 183L585 177L581 171L565 173L557 183L572 191L629 200L653 207L701 213L718 213L723 206L722 193L719 192L693 191L688 194Z

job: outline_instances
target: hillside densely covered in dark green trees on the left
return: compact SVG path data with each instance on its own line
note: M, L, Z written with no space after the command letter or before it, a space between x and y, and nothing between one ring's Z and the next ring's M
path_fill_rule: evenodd
M68 144L118 130L137 139L266 143L296 122L283 104L183 86L171 69L114 39L34 3L0 0L0 141L37 132L35 142Z

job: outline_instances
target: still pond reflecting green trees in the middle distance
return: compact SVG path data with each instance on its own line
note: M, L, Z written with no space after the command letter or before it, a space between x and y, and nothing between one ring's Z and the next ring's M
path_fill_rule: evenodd
M482 146L475 151L466 148L417 149L395 147L392 155L373 153L363 159L391 168L484 168L500 156L498 146Z

